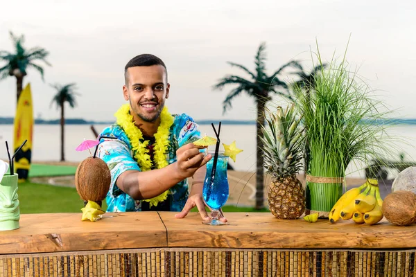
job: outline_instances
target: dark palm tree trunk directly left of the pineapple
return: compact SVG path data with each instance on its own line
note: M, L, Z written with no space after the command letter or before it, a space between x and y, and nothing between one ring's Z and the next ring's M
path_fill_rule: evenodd
M266 102L263 99L257 99L257 170L256 170L256 206L257 210L260 210L264 206L264 174L263 174L263 133L261 132L261 126L264 125L264 107Z

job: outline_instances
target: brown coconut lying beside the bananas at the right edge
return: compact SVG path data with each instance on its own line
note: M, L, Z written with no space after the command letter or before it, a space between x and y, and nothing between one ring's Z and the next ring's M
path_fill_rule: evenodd
M406 226L416 222L416 195L410 191L398 190L387 195L381 211L392 224Z

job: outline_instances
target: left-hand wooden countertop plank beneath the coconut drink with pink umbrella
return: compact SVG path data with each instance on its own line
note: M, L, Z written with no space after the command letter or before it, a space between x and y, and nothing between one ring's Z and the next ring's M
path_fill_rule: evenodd
M19 229L0 232L0 253L166 247L166 229L157 212L105 216L81 222L81 213L21 215Z

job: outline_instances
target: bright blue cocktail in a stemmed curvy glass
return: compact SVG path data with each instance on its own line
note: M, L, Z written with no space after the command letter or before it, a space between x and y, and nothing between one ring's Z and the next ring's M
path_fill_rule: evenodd
M214 153L209 152L214 156ZM206 222L210 225L220 225L223 222L218 220L219 209L227 202L229 189L227 179L227 164L228 157L223 153L218 154L218 160L216 162L216 171L214 177L211 176L212 168L214 165L214 158L207 163L207 174L205 175L204 188L202 195L204 201L212 209L211 222Z

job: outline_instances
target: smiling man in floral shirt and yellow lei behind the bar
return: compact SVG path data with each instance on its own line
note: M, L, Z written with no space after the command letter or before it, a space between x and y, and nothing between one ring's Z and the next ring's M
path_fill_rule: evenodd
M138 55L125 65L124 76L128 104L116 112L116 124L101 133L114 139L101 139L98 147L112 175L107 211L178 211L176 217L185 217L197 206L208 220L202 186L211 156L192 143L200 138L193 119L168 112L171 86L164 62ZM190 193L188 177L193 177Z

